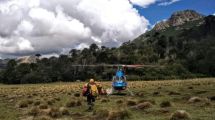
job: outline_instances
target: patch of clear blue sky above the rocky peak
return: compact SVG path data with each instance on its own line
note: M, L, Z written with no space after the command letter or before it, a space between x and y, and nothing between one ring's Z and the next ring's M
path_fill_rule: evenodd
M134 7L153 25L157 21L169 18L173 12L179 10L192 9L204 15L214 14L215 0L180 0L168 6L152 4L147 8Z

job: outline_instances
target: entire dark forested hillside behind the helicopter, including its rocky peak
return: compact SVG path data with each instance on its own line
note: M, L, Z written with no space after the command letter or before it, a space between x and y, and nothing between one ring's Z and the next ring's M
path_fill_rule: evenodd
M187 19L189 17L189 19ZM119 48L91 44L68 55L10 60L0 74L3 83L41 83L95 78L111 80L117 67L73 65L149 64L156 67L125 68L128 80L185 79L215 76L215 16L195 11L174 13L166 28L152 30ZM171 23L171 24L170 24ZM158 23L160 24L160 23ZM26 57L25 57L26 58ZM36 58L36 57L30 57ZM24 59L25 61L25 59Z

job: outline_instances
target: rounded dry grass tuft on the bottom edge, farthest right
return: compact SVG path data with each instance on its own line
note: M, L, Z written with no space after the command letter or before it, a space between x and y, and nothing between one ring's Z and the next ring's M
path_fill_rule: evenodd
M170 117L170 120L190 120L190 119L191 119L190 114L185 110L177 110Z

